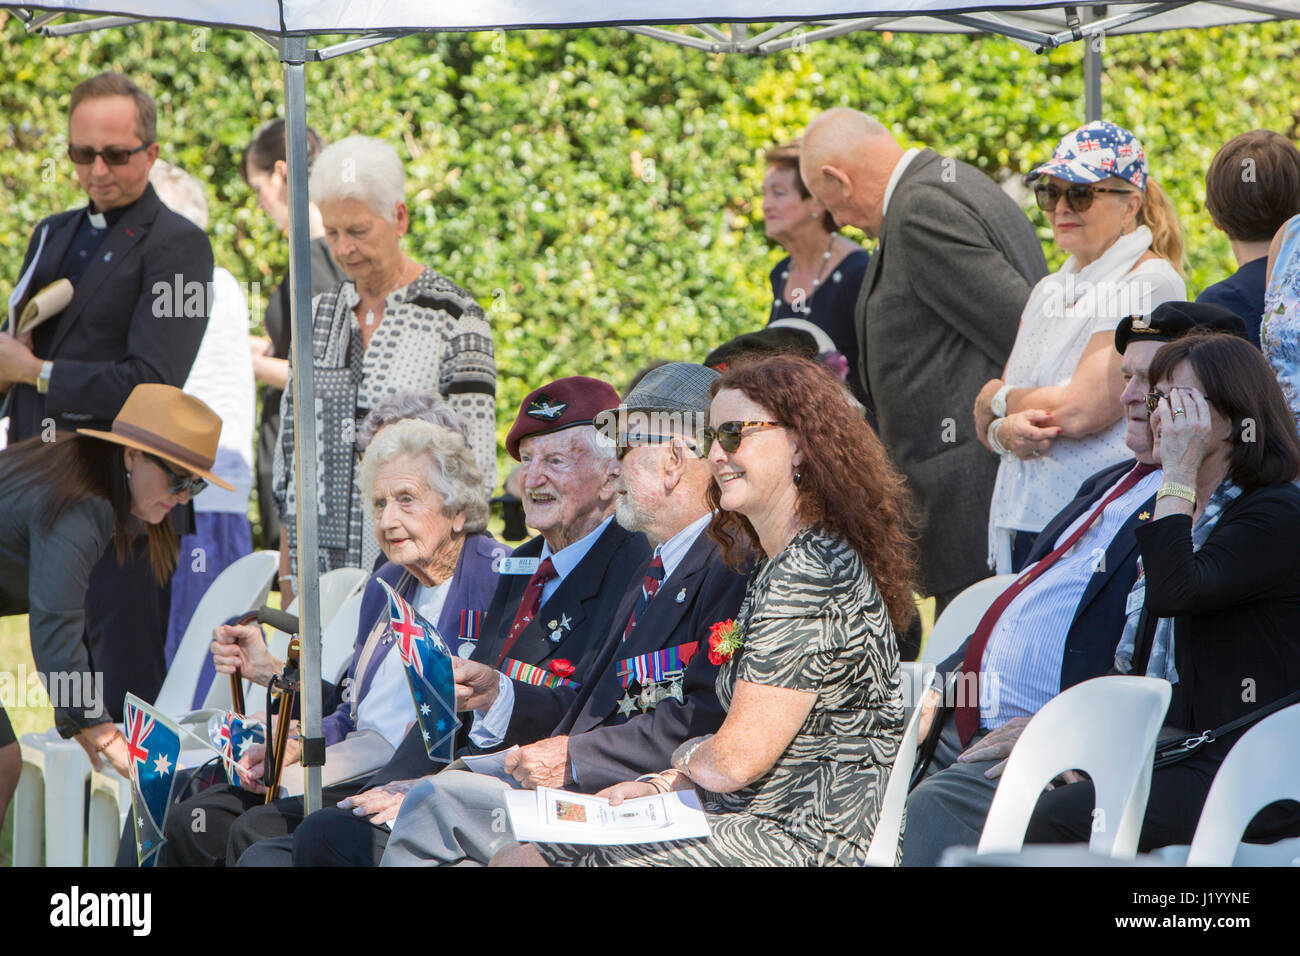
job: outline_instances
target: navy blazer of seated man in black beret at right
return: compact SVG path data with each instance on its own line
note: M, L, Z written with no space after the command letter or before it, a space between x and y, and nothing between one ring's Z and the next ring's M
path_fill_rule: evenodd
M1061 532L1083 516L1089 509L1110 490L1136 464L1132 459L1102 468L1092 477L1087 479L1075 494L1074 501L1062 509L1056 518L1048 522L1046 527L1034 542L1034 550L1026 567L1049 554L1054 548ZM1128 602L1128 592L1138 580L1138 538L1135 531L1145 520L1150 519L1150 512L1156 507L1156 498L1152 496L1128 516L1121 525L1119 532L1110 540L1102 561L1079 596L1079 604L1074 610L1074 619L1070 622L1070 631L1065 639L1065 656L1061 659L1061 689L1100 678L1109 674L1115 662L1115 645L1124 630L1124 606ZM1141 515L1147 515L1143 518ZM1034 585L1030 585L1032 591ZM970 637L962 641L957 652L939 665L939 670L948 675L959 672L962 659L966 657L966 645Z

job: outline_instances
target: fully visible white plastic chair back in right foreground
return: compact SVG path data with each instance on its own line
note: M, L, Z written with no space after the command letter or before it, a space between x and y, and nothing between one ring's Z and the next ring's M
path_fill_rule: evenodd
M979 852L1019 852L1043 788L1065 770L1083 770L1096 788L1088 848L1132 860L1169 697L1166 680L1108 676L1075 684L1043 705L1006 762Z

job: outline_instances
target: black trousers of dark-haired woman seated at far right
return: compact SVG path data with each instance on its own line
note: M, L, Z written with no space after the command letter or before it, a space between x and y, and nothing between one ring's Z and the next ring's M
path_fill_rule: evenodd
M1140 853L1192 842L1210 783L1225 753L1226 750L1205 757L1188 757L1152 774L1147 814L1138 839ZM1288 757L1278 754L1278 758ZM1024 842L1087 843L1095 826L1106 825L1105 819L1093 819L1095 800L1091 780L1049 790L1039 797ZM1118 822L1113 821L1113 825ZM1300 804L1283 800L1260 812L1245 829L1244 842L1275 843L1291 836L1300 836Z

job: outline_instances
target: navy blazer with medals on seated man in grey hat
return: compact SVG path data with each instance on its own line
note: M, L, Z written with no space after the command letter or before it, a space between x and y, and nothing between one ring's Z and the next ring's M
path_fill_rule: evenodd
M638 576L645 576L644 567ZM679 745L722 726L725 713L715 688L718 667L708 662L708 628L736 617L745 584L746 576L727 567L718 545L701 532L624 643L640 581L628 588L602 649L601 676L582 688L551 734L569 735L567 787L594 793L663 770ZM668 697L644 714L624 715L618 706L624 693L619 662L692 643L698 648L686 666L682 701Z

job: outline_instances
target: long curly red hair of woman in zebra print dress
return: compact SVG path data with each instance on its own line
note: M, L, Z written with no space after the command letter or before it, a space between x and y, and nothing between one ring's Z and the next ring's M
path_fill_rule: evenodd
M906 631L916 611L910 496L848 389L826 369L792 355L733 367L714 382L712 394L723 389L744 392L794 433L803 451L800 518L849 542L880 589L894 632ZM741 566L758 535L745 515L723 511L720 497L718 483L710 483L714 518L708 533L724 559Z

